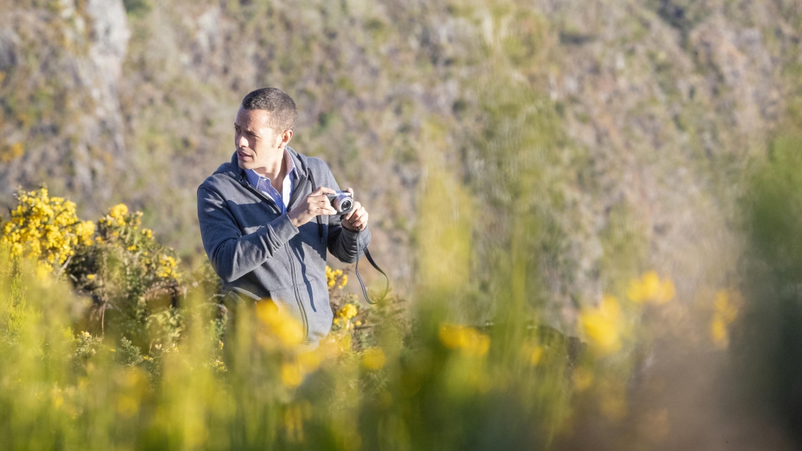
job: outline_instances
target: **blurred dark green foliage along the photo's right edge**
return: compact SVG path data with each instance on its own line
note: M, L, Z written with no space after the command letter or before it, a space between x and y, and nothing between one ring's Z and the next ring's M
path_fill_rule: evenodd
M746 312L739 321L734 369L747 401L796 427L802 403L802 138L778 136L743 197Z

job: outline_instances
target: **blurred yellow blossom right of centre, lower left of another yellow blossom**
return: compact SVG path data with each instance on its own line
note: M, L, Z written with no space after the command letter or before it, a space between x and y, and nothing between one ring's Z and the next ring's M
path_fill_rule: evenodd
M625 321L618 299L606 295L599 307L584 309L580 324L598 353L607 355L621 349Z

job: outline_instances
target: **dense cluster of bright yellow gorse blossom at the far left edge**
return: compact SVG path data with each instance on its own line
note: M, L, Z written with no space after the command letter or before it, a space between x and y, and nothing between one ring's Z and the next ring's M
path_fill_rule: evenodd
M40 270L63 266L77 246L90 246L95 223L81 221L75 203L50 197L47 188L17 193L17 208L2 225L0 243L10 245L13 257L38 259Z

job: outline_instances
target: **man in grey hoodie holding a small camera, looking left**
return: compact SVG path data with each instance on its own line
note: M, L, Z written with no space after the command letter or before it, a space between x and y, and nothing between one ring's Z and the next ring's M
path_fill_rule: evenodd
M272 299L303 324L303 344L313 349L332 320L326 250L355 262L371 232L358 201L342 221L336 214L326 194L339 187L328 165L287 145L297 115L276 88L245 95L237 151L198 187L198 221L227 299Z

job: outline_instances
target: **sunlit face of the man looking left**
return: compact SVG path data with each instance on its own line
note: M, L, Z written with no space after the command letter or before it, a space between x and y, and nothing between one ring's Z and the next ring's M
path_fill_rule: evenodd
M269 126L269 112L240 108L234 121L234 145L237 162L242 169L265 167L278 152L282 152L291 131L276 132Z

